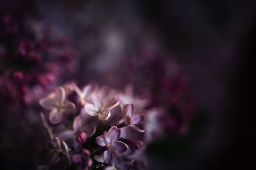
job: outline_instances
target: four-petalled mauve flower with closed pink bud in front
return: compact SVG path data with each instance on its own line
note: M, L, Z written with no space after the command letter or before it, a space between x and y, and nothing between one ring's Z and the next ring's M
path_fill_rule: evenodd
M59 138L63 141L68 139L73 140L73 146L75 150L81 149L81 144L86 142L87 137L94 135L96 128L93 125L84 126L84 118L82 115L76 116L73 122L73 130L66 130L59 135Z

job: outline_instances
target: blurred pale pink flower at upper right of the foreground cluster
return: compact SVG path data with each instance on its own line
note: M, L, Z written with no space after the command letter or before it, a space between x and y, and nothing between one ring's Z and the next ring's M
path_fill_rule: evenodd
M149 97L141 98L134 96L132 85L127 85L125 93L118 93L115 97L119 100L121 108L123 108L124 105L131 103L135 104L137 108L145 108L150 104Z

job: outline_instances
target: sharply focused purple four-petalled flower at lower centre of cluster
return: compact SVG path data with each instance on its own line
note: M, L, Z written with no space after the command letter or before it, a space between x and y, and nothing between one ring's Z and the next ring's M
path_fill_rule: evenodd
M106 147L108 150L103 152L103 159L106 163L110 163L115 156L120 157L121 153L128 150L128 146L119 140L121 130L117 126L112 126L108 132L96 137L96 143L99 146Z

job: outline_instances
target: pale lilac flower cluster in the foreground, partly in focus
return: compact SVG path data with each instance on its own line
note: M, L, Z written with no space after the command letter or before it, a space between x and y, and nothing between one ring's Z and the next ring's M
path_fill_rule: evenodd
M76 95L74 101L72 94ZM49 110L41 113L41 117L49 133L46 146L52 157L48 165L38 166L38 170L134 170L135 161L146 164L141 158L151 142L149 133L152 136L164 130L162 126L166 123L147 120L152 112L159 111L147 108L150 100L134 96L131 86L127 86L125 93L96 84L88 84L83 90L74 82L59 86L39 101ZM159 124L162 129L152 130Z

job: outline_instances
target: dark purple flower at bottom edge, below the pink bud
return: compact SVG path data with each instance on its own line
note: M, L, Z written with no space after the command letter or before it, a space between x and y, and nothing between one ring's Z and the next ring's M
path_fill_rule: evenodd
M92 159L90 158L90 151L83 149L81 154L75 154L72 157L72 160L75 163L79 163L78 170L88 170L92 166Z

